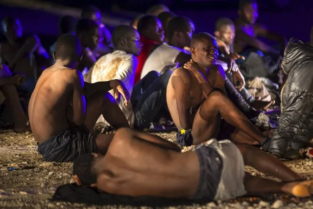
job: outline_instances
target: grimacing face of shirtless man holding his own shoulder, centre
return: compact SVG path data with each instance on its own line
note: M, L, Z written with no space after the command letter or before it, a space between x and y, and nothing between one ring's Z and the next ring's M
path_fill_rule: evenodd
M206 67L215 65L218 57L218 47L217 42L214 38L204 39L200 42L193 54L193 59L195 62L201 63Z

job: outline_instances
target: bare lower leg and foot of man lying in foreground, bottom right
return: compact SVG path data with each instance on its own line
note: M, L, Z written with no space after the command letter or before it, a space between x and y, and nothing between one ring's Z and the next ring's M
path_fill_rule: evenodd
M244 187L246 191L251 192L285 192L296 197L310 197L313 194L313 181L302 182L275 182L261 177L251 176L244 177Z

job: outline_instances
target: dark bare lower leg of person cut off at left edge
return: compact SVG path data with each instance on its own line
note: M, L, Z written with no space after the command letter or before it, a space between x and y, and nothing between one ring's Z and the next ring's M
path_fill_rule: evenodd
M26 125L27 117L24 113L16 87L14 85L3 85L1 86L1 90L5 96L6 103L11 109L15 131L30 131L30 128Z

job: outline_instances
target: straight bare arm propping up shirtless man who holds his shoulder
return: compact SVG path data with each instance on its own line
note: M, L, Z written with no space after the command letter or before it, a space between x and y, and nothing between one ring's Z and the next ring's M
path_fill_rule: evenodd
M191 129L193 124L189 114L192 107L192 98L189 94L191 89L190 75L184 69L176 69L176 75L173 75L171 85L175 90L179 124L184 130Z

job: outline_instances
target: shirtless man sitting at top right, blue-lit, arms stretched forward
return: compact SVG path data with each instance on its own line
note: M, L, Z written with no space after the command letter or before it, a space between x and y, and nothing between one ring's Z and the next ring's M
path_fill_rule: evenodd
M265 26L256 24L255 22L258 16L259 12L256 0L240 0L239 18L235 21L235 52L241 53L246 47L253 47L264 53L282 54L287 45L287 40L283 36L268 30ZM278 43L281 51L268 46L259 40L258 37L264 37Z

